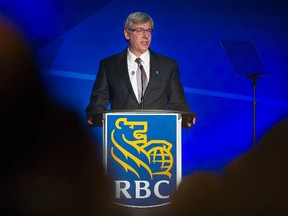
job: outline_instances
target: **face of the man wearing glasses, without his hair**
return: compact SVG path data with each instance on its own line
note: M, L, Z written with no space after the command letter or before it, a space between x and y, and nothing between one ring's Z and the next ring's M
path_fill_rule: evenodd
M124 36L129 41L129 50L137 57L149 48L152 39L151 30L150 22L133 24L130 30L124 30Z

